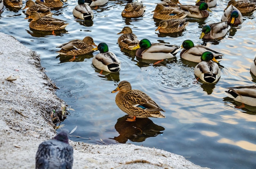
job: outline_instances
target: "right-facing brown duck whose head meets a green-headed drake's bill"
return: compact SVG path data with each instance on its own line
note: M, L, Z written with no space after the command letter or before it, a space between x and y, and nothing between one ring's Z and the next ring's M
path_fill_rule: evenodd
M61 48L61 50L57 51L57 53L72 56L83 55L93 52L92 45L97 47L92 37L86 36L83 40L71 40L70 42L58 46L57 48Z

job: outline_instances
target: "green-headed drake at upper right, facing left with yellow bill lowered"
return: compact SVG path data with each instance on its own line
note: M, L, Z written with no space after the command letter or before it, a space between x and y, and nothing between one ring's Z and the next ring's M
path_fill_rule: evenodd
M230 26L227 24L227 21L212 23L209 25L204 25L202 27L202 33L200 39L218 39L224 37L229 31Z

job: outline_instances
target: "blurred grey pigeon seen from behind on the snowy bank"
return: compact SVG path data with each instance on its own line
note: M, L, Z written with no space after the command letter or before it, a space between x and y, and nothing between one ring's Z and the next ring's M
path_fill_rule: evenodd
M36 169L72 169L73 147L68 143L69 132L61 130L51 140L41 143L36 152Z

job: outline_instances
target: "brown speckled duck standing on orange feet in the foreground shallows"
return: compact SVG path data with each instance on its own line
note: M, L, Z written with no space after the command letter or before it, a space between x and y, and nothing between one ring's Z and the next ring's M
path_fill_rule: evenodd
M118 92L119 91L119 92ZM129 114L132 119L126 121L135 121L136 118L165 118L159 112L165 112L153 101L146 93L140 90L132 90L132 86L128 81L120 81L117 88L112 93L117 93L116 104L125 113Z

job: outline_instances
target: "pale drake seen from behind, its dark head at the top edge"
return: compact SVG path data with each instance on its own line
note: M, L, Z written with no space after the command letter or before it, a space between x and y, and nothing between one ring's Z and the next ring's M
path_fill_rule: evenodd
M78 5L75 6L72 13L76 18L80 18L82 20L93 19L92 9L88 4L85 4L84 0L78 0Z

